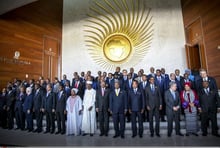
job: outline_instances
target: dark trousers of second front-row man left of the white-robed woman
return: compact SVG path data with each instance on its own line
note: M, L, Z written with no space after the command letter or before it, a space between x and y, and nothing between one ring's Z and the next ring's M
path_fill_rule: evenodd
M46 131L47 132L54 132L55 131L55 115L52 112L46 111Z

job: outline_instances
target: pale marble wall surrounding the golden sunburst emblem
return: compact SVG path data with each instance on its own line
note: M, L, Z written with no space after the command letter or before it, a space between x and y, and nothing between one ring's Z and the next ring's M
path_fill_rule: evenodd
M144 59L134 66L149 73L151 66L166 68L167 73L176 68L183 74L187 67L185 55L185 37L180 0L144 0L151 8L154 34L151 47ZM64 0L63 36L62 36L62 73L72 78L74 71L105 71L90 57L85 46L84 29L92 0ZM129 63L122 68L129 69Z

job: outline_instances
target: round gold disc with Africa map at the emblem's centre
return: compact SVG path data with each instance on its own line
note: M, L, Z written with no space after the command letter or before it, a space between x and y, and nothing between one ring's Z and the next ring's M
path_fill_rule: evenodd
M125 61L132 51L129 39L121 34L108 37L103 45L105 57L112 62Z

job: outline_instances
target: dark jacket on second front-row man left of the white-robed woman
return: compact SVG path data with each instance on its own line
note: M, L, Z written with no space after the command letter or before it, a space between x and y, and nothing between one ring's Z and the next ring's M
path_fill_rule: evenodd
M44 96L44 109L47 112L52 112L52 109L56 109L56 97L54 92L50 92L47 96L47 93Z

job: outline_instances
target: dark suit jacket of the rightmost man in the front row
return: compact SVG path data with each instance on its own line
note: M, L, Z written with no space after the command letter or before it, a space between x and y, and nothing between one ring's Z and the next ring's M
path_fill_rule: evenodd
M217 108L220 108L220 98L216 90L210 88L209 94L205 93L204 89L199 92L199 104L202 108L202 112L216 112Z

